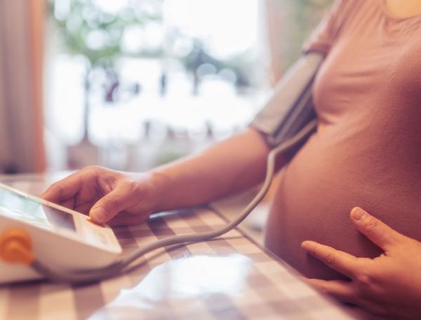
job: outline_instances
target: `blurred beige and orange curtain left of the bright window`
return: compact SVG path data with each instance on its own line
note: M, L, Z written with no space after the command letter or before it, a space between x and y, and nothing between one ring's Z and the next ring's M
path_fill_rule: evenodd
M45 168L44 0L0 1L0 171Z

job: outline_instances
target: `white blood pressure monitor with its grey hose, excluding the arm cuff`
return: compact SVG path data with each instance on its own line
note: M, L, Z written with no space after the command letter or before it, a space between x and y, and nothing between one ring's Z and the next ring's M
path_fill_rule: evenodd
M263 199L274 176L276 156L302 144L316 127L317 121L310 121L269 152L262 189L227 225L151 241L126 256L121 256L119 242L106 225L96 225L86 215L0 184L0 283L43 276L74 284L100 281L120 274L158 248L222 236L239 225Z

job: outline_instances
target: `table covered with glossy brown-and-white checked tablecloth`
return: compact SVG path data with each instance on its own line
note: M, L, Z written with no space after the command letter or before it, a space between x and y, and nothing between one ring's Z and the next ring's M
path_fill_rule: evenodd
M4 175L0 182L40 194L57 178ZM114 231L129 253L165 236L226 223L222 214L203 207L160 213L145 225ZM219 239L154 251L136 265L83 286L0 286L0 319L352 319L238 227Z

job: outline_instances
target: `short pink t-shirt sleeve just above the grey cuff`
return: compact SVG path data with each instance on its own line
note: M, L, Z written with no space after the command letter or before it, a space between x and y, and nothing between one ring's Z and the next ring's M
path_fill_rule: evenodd
M349 0L336 0L320 24L302 46L303 53L318 52L327 55L352 7Z

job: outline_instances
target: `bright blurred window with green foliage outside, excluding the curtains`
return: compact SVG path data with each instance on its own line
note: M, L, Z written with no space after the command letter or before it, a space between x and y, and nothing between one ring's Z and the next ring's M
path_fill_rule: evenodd
M246 126L269 88L267 5L51 0L51 167L141 171Z

